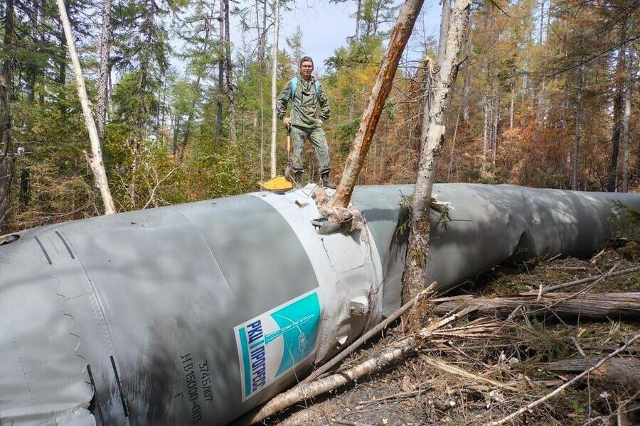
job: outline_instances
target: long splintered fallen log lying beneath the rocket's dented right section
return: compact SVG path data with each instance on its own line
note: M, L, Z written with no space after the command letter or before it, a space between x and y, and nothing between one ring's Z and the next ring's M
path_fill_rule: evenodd
M555 315L593 319L640 319L640 293L548 293L538 295L508 295L503 297L471 297L468 295L434 299L434 314L464 307L475 307L476 315L509 315L522 306L530 315Z

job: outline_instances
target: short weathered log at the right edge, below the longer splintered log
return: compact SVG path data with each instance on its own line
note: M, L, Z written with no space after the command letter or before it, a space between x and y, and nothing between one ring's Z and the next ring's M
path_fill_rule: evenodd
M540 364L540 367L558 373L581 373L597 364L598 361L599 358L562 359ZM640 389L640 359L610 359L607 364L592 371L590 378L597 378L612 387L624 386L636 391Z

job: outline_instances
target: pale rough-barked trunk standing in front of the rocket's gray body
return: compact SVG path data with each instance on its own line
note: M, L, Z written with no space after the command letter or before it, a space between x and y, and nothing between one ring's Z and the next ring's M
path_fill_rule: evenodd
M407 246L402 300L410 300L422 290L429 250L431 192L436 163L444 144L444 118L450 91L458 75L457 57L469 23L470 0L455 0L444 54L438 58L439 72L429 111L425 111L420 136L420 163L411 206L411 231Z

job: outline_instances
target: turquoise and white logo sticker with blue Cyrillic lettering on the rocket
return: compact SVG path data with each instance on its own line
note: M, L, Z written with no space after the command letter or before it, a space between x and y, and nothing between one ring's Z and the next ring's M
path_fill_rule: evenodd
M314 351L320 316L318 290L311 290L233 328L243 402Z

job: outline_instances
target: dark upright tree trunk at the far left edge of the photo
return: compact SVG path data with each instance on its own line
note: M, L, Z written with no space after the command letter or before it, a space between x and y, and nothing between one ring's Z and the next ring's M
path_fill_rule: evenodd
M13 50L14 37L14 0L6 0L4 18L4 50ZM9 215L11 207L11 183L14 180L14 159L11 157L11 67L13 54L9 53L2 63L0 74L0 235L2 224Z

